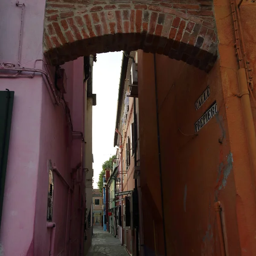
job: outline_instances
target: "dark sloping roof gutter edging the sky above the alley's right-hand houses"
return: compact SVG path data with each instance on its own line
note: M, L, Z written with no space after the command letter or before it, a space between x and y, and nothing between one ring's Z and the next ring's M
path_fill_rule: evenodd
M126 57L125 54L128 55L128 52L123 52L123 56L122 56L122 66L121 66L121 75L120 75L120 81L119 81L119 91L118 91L117 111L116 111L116 129L117 130L119 130L119 121L120 121L121 109L122 109L122 98L124 93L125 79L126 79L126 73L127 73L127 67L128 67L128 61L129 61L129 58ZM114 147L117 145L117 137L118 137L118 134L115 131Z

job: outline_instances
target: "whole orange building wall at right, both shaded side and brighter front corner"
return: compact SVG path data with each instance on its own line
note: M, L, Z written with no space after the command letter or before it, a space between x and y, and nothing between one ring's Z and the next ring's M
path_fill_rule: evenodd
M241 99L236 96L230 0L214 4L219 58L208 74L156 56L167 255L220 255L215 201L223 208L228 255L256 255L255 193ZM248 59L255 69L256 3L244 1L240 10ZM152 54L139 51L140 169L145 250L163 255L153 60ZM195 101L208 85L211 96L196 111ZM215 100L218 114L198 136L190 136L194 123Z

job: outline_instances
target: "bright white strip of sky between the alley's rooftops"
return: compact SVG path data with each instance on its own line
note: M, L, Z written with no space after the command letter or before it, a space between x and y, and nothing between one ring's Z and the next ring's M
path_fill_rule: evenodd
M96 106L93 106L93 188L96 189L102 164L113 154L114 133L122 52L97 54L93 63L93 93L96 93Z

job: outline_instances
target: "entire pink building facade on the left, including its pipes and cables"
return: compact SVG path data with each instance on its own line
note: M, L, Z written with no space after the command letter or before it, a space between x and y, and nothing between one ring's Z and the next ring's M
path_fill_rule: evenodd
M61 66L67 93L56 90L55 70L47 71L43 61L44 12L45 1L0 2L0 91L14 91L1 256L78 256L86 247L84 216L90 206L85 214L84 134L87 98L92 95L87 93L82 57ZM87 62L90 67L91 58ZM13 68L30 71L21 75ZM35 68L43 71L31 72Z

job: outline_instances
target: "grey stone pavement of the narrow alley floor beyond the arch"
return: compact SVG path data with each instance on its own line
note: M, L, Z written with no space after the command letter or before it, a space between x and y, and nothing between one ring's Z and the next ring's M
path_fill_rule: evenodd
M102 227L93 226L93 240L87 256L128 256L118 238L113 237Z

